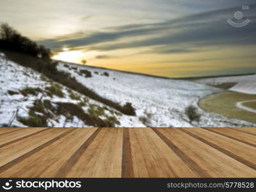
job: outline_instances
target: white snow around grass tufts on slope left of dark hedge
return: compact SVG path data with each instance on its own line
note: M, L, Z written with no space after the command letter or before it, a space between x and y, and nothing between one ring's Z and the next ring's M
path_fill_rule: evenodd
M132 125L143 126L138 118L130 118L125 115L116 115L115 109L111 109L108 106L104 106L95 100L88 99L83 95L72 91L76 94L79 99L70 98L70 89L65 86L60 86L63 97L53 95L49 97L45 93L38 92L36 95L22 95L21 90L26 88L40 88L45 90L47 87L51 87L52 83L47 77L38 72L31 70L30 68L22 67L12 61L8 61L4 58L4 54L0 53L0 127L16 126L26 127L26 125L19 122L18 118L29 118L29 108L34 106L36 100L50 100L52 106L56 106L58 102L68 102L78 104L79 102L86 100L86 104L83 106L85 113L93 106L102 109L105 116L99 116L102 120L106 117L115 116L118 118L120 127L131 127ZM42 115L35 112L37 115ZM49 113L52 113L49 111ZM47 120L49 127L89 127L90 125L85 124L82 120L73 116L72 119L67 119L65 115L53 114L51 118Z

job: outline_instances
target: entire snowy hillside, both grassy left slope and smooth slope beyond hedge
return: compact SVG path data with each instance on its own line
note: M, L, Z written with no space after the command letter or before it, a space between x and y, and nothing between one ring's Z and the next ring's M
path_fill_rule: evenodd
M239 127L255 126L208 113L198 100L221 92L189 81L128 74L103 68L58 63L58 70L122 106L131 102L135 116L85 97L0 55L0 127ZM190 122L185 111L193 105L200 121Z

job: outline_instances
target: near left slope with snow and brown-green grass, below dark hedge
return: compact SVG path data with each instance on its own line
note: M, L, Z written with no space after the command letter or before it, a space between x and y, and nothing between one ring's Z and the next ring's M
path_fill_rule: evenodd
M36 126L44 120L49 127L143 126L138 118L122 115L0 54L0 127Z

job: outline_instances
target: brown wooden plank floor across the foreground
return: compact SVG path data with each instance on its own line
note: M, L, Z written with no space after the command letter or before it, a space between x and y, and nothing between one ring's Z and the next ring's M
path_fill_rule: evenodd
M0 128L0 177L256 177L256 128Z

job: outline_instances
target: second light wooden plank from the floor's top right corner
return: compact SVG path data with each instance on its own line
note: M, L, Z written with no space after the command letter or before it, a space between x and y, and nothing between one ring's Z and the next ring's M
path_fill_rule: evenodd
M252 134L247 134L245 132L237 132L232 128L221 128L221 129L204 128L204 129L207 129L208 131L216 132L223 136L227 136L228 138L231 138L233 140L237 140L242 143L246 143L248 145L252 145L253 147L256 147L256 136L253 136Z

